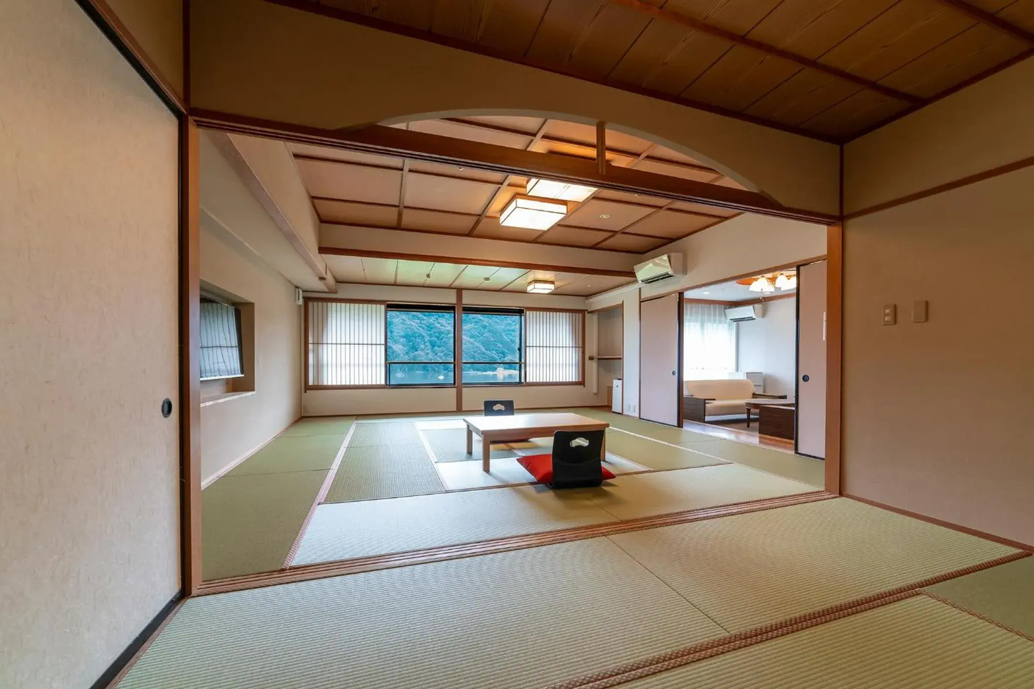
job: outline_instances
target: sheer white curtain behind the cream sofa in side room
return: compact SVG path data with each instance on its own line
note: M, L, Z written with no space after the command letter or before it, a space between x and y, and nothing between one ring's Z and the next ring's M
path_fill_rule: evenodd
M682 378L728 378L736 370L736 323L721 304L686 303Z

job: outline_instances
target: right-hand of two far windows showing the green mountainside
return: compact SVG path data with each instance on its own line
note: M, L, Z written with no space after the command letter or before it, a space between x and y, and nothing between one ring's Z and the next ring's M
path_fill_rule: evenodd
M523 335L520 310L463 309L463 384L520 383Z

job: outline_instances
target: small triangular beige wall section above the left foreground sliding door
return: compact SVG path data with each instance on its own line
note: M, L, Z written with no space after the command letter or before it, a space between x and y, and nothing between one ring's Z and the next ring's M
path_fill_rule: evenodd
M107 0L162 77L183 95L183 0Z

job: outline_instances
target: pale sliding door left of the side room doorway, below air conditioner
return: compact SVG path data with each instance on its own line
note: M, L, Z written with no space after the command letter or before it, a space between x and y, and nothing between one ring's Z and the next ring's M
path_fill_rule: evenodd
M639 417L678 426L681 294L639 305Z

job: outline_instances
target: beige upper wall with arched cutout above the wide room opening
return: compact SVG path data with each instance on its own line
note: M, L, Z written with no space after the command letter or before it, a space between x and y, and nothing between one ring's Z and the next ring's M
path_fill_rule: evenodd
M786 206L839 208L837 146L740 120L260 0L193 3L190 41L196 107L328 129L487 111L604 120Z

